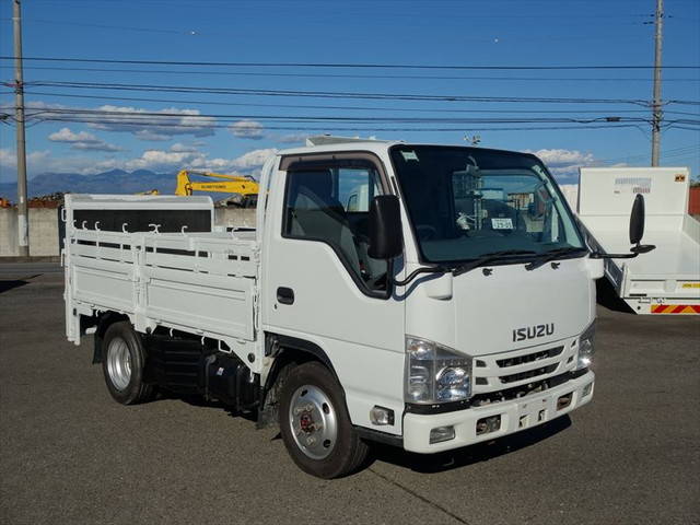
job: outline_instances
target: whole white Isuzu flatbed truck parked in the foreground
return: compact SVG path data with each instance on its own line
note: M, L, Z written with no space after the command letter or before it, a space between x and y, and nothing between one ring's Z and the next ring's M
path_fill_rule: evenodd
M68 339L94 334L112 396L249 411L312 475L593 396L603 258L532 154L338 140L267 161L254 231L218 231L202 197L69 195L65 220Z

